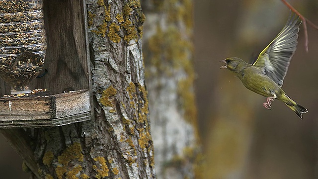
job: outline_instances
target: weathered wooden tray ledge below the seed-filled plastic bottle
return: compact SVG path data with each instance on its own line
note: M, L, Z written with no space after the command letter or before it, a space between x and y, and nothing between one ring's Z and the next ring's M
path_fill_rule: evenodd
M0 129L56 127L90 120L89 90L0 98Z

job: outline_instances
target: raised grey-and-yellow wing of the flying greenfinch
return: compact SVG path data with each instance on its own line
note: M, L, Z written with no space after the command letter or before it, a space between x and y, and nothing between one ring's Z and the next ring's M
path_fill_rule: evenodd
M299 16L292 14L274 40L259 54L252 65L264 69L265 74L278 86L283 85L289 62L294 55L297 46Z

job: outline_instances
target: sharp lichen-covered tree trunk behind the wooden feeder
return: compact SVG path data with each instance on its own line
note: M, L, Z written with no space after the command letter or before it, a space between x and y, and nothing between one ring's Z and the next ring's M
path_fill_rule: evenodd
M95 118L3 134L37 178L155 178L140 3L87 0L87 15Z

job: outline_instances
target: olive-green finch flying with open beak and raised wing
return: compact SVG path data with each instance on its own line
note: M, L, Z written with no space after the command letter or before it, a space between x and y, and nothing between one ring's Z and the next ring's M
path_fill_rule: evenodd
M265 108L271 109L271 102L278 99L302 119L302 113L308 110L289 98L281 88L297 46L301 24L298 20L298 15L290 15L284 28L252 64L237 57L231 57L222 60L226 65L220 68L234 72L247 89L267 97L266 102L263 103Z

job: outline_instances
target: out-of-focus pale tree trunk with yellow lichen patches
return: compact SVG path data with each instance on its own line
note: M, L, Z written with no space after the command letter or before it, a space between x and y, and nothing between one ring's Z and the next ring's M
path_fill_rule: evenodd
M143 52L159 179L200 178L192 0L142 0Z

